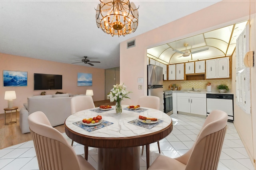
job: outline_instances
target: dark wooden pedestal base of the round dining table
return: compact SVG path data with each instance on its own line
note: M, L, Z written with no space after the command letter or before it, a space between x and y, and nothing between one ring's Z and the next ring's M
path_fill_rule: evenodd
M140 170L140 147L98 148L98 170Z

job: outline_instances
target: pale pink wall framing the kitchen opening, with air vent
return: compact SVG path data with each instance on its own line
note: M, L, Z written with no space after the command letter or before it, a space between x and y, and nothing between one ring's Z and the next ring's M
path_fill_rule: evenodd
M120 43L120 82L124 83L128 90L133 92L129 95L131 100L127 100L126 103L136 104L140 96L147 95L146 50L150 47L218 29L220 27L228 26L240 21L249 20L250 11L251 14L253 14L251 15L251 20L253 23L253 32L251 33L250 37L252 41L251 51L256 50L255 9L255 0L251 1L251 5L249 5L249 0L223 0L189 16L185 16L184 18L127 40L130 41L135 39L136 47L127 49L127 41ZM138 26L138 29L139 28L140 25ZM130 63L130 61L136 61L133 62L132 69L130 64L127 64ZM232 69L235 73L235 68L233 67ZM252 68L252 85L256 84L255 74L256 70L255 68ZM233 76L234 80L232 81L235 81L235 77L236 76ZM137 78L144 78L142 90L138 90L139 83L137 82ZM254 93L252 93L251 100L251 115L246 115L246 113L244 113L244 111L241 109L234 110L234 125L236 126L238 134L245 145L248 155L250 156L250 160L256 158L256 146L253 145L253 143L256 143L256 125L252 125L255 123L251 123L255 122L256 117L256 109L254 108L256 96L253 95L255 94L256 88L255 86L252 86L252 88L252 92ZM237 108L236 104L235 108ZM253 161L252 163L254 164L254 168L256 168L256 164Z

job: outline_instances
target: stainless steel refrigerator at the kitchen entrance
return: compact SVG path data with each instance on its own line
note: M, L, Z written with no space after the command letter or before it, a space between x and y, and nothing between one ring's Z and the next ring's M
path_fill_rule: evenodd
M157 65L148 65L148 96L160 98L160 110L164 111L163 95L163 68Z

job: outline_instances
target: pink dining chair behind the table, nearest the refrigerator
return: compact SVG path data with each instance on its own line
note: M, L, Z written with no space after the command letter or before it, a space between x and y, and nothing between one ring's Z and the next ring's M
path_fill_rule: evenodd
M159 110L159 108L160 108L160 98L157 97L157 96L140 96L138 104L141 107L148 107L148 108ZM157 145L158 145L158 151L159 151L159 153L161 153L160 152L159 141L157 141ZM144 145L142 146L141 155L143 155L143 150L144 150Z

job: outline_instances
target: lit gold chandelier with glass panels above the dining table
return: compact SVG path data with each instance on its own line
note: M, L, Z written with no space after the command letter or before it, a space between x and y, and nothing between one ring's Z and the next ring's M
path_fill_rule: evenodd
M96 8L98 28L112 36L136 31L138 16L138 8L129 0L100 0Z

